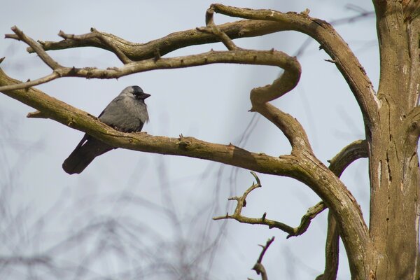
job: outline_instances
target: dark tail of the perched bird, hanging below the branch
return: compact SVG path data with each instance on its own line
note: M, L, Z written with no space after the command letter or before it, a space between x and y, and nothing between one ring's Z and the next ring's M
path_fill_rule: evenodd
M62 167L68 174L80 174L94 158L112 149L112 146L85 135L69 158L64 160Z

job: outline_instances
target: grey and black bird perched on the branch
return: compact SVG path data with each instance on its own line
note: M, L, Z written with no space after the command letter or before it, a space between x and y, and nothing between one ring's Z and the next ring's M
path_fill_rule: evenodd
M125 87L98 118L120 132L140 132L149 120L144 100L150 96L138 85ZM62 167L68 174L80 174L94 158L115 148L85 134L69 158L64 160Z

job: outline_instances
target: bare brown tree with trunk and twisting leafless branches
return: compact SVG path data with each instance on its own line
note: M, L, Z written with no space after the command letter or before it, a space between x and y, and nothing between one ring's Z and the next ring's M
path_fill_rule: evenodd
M87 132L107 144L135 151L183 155L250 169L255 172L288 176L306 184L322 200L302 218L298 228L261 218L241 215L248 189L237 200L235 218L243 223L258 223L279 228L290 236L306 230L310 219L328 207L329 224L326 242L326 266L323 279L335 279L337 242L341 237L349 259L353 279L419 278L419 4L409 1L373 1L377 16L381 76L374 91L363 66L349 46L328 22L302 13L274 10L249 10L214 4L207 10L207 27L169 34L145 44L134 44L92 29L89 34L60 32L64 41L36 43L18 27L6 37L24 41L29 52L36 52L52 73L22 83L0 72L0 91L38 111L31 118L50 118L76 130ZM214 24L214 13L244 18L225 25ZM363 115L365 139L343 148L325 167L316 158L302 125L293 116L269 104L293 90L300 78L300 64L276 50L245 50L232 39L260 36L276 31L295 30L320 43L348 83ZM210 51L185 57L162 57L189 45L222 41L227 51ZM123 66L109 69L62 66L48 55L48 50L93 46L116 54ZM124 134L100 123L96 118L54 99L33 86L64 76L118 78L153 69L174 69L213 63L260 64L284 70L271 85L251 91L252 111L279 127L290 142L290 155L280 157L251 153L233 145L212 144L193 137L156 137L147 134ZM370 220L362 216L358 202L339 180L343 170L358 158L369 159ZM267 246L269 244L267 243ZM267 248L265 247L265 249ZM262 258L262 255L261 255ZM257 268L258 269L258 268Z

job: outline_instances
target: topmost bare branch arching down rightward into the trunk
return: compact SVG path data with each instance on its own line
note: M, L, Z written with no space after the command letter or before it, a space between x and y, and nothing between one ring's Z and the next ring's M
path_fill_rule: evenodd
M323 20L311 18L305 13L280 13L276 10L251 10L235 8L222 4L213 4L216 13L250 20L269 20L278 22L283 30L300 31L314 38L321 44L321 48L330 55L339 71L349 84L360 106L369 128L377 119L378 101L373 85L367 77L363 66L351 52L349 45L339 36L337 31Z

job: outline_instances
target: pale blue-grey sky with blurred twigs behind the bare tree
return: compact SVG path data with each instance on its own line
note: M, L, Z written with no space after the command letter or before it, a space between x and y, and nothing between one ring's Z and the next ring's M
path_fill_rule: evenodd
M204 25L211 1L3 1L0 34L18 26L35 40L59 41L59 30L85 34L90 27L146 43L174 31ZM311 10L332 22L377 87L379 57L369 1L224 1L231 6L282 12ZM232 22L216 14L216 24ZM272 102L302 123L318 158L328 165L339 150L364 139L360 109L348 85L318 43L285 31L235 43L297 55L302 78L295 90ZM27 45L1 39L1 68L27 80L50 73ZM167 57L225 50L221 43L183 48ZM96 48L50 51L64 66L120 66ZM127 85L140 85L150 123L144 131L168 137L230 142L248 151L282 155L290 145L251 107L253 87L272 83L281 71L268 66L213 64L137 73L118 80L61 78L38 88L97 116ZM62 170L83 133L52 120L28 119L34 109L0 94L0 279L259 279L251 270L258 244L276 239L263 259L269 279L314 279L323 272L327 211L307 232L286 233L261 225L212 221L232 213L253 183L248 170L219 163L117 149L95 159L80 175ZM262 188L248 195L243 214L299 225L319 198L293 179L258 174ZM342 181L369 217L367 160L346 169ZM366 221L368 223L368 221ZM349 279L344 247L338 279Z

